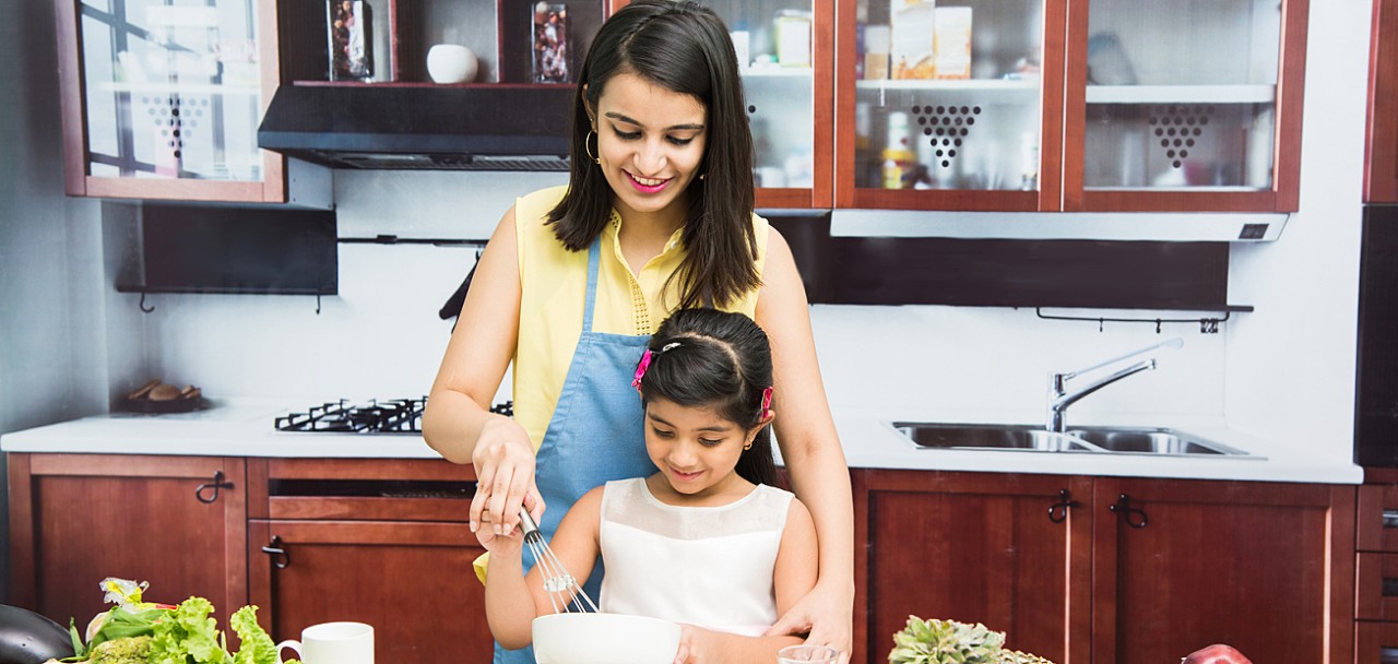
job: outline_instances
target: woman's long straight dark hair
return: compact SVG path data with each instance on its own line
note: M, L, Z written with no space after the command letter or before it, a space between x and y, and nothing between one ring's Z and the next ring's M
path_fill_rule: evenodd
M554 235L579 252L611 217L612 190L587 157L596 154L587 144L587 106L597 108L617 74L636 74L703 103L707 138L699 172L705 178L692 179L685 192L689 210L681 240L688 254L671 278L678 278L681 308L735 302L761 285L752 229L752 131L728 28L713 10L693 1L633 1L612 14L593 39L573 103L568 193L548 212Z

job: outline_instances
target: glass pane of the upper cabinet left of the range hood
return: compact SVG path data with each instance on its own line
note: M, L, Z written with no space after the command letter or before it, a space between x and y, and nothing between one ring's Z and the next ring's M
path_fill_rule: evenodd
M256 134L267 88L257 4L78 4L84 169L91 179L253 183L249 197L263 199L268 173ZM161 197L159 187L147 192Z

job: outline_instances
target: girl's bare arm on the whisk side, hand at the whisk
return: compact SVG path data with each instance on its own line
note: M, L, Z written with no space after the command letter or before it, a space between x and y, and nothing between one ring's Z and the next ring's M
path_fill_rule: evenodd
M601 519L603 488L583 495L563 514L558 533L549 541L549 548L559 562L582 586L593 573L597 561L597 528ZM534 640L534 618L552 614L554 604L544 590L544 577L535 565L524 575L520 559L524 535L514 530L509 535L496 535L493 528L478 528L475 533L481 545L491 552L491 563L485 572L485 618L495 640L510 650L519 650ZM531 601L520 601L528 597ZM568 597L570 598L570 596ZM597 601L594 597L593 601Z

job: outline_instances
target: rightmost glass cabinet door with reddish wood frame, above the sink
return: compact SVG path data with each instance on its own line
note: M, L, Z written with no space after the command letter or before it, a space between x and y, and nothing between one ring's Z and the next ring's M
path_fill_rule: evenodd
M1274 208L1288 4L1074 4L1065 207Z

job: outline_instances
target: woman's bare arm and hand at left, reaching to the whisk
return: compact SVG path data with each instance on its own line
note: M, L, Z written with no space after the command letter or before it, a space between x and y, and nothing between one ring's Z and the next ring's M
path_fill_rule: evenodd
M422 415L422 438L433 450L452 463L475 465L473 531L485 510L496 534L512 531L526 493L535 498L531 513L544 509L534 486L534 443L513 419L489 411L519 342L520 298L512 207L475 266Z

